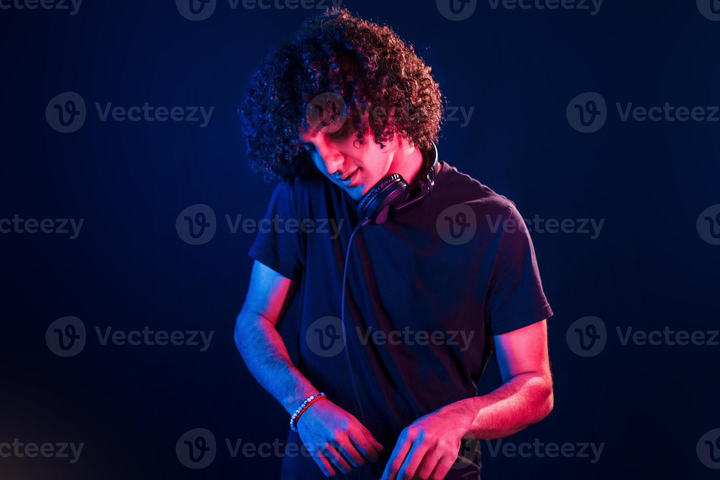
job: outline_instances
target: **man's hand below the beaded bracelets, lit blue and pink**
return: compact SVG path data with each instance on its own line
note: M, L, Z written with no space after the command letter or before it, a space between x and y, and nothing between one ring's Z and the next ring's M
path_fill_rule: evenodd
M297 432L325 476L343 474L366 461L377 462L383 446L353 415L328 399L320 399L300 415ZM348 463L349 462L349 463Z

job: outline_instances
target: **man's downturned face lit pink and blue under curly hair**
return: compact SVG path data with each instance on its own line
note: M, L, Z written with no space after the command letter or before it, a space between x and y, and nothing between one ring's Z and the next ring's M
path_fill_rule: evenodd
M396 146L395 141L384 142L381 149L369 127L360 144L348 121L335 133L310 127L301 136L318 170L356 200L387 176Z

